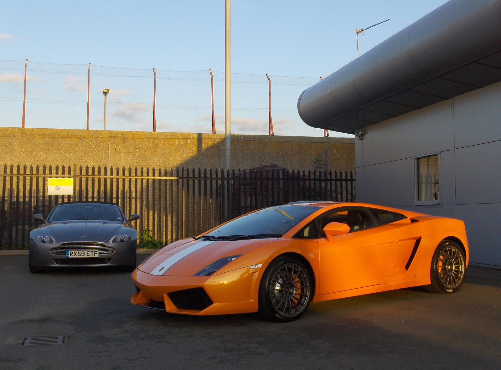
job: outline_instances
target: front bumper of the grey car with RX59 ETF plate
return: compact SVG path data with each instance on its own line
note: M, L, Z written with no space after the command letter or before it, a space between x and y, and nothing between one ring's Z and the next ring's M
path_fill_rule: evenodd
M104 243L113 247L113 253L99 254L99 258L66 258L66 255L53 254L51 249L62 243L39 243L30 238L30 265L33 267L90 267L90 266L132 266L136 263L136 240L123 243ZM87 249L82 247L79 249ZM89 247L88 249L94 249Z

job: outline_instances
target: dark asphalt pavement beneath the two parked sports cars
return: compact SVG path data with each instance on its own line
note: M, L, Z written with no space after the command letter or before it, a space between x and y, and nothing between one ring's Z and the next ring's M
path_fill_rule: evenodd
M129 273L31 274L27 256L0 256L0 368L501 368L501 270L469 267L450 295L400 289L314 303L291 323L167 314L133 306L133 292ZM20 346L39 335L68 339Z

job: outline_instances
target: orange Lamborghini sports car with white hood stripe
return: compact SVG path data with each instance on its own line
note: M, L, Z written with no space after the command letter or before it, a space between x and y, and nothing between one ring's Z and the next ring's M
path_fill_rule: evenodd
M131 302L291 321L310 302L419 285L453 293L468 255L460 220L363 203L294 202L165 246L132 273Z

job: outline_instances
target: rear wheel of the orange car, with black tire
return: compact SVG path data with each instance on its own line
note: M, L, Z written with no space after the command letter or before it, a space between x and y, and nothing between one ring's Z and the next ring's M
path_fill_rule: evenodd
M454 293L464 282L465 256L452 240L442 241L431 259L431 284L424 288L432 293Z

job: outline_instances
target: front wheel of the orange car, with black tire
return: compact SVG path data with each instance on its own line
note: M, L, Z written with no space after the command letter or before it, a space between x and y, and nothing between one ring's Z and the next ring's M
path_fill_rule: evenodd
M305 265L292 257L277 257L259 285L258 315L269 321L297 320L308 309L313 281Z

